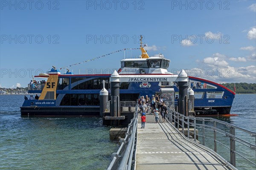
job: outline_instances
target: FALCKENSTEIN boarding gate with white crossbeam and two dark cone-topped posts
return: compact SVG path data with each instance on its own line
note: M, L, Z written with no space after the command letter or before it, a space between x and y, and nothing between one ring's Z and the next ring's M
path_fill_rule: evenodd
M178 99L178 111L183 115L188 115L189 105L188 105L188 76L184 70L178 75L174 74L129 74L129 75L119 75L116 71L111 74L111 100L110 100L110 116L105 117L109 120L120 120L125 119L124 116L120 114L120 97L119 97L119 83L120 82L176 82L179 87L179 99ZM102 89L100 95L108 95L105 88ZM106 103L108 101L105 101ZM103 102L102 102L103 103ZM103 105L107 105L103 103ZM174 105L174 103L173 103Z

